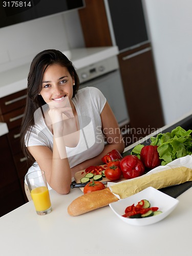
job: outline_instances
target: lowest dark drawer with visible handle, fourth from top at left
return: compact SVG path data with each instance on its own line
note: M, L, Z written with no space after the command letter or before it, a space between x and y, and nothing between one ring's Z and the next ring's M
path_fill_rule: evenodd
M13 159L14 159L15 166L17 169L17 175L18 175L19 179L22 179L26 175L28 168L30 166L28 166L27 160L26 160L23 152L20 152L20 153L14 155Z

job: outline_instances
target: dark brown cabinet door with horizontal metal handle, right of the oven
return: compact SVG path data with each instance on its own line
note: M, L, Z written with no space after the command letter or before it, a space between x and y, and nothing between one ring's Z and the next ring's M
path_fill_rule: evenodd
M136 140L164 125L151 45L120 53L118 59L131 136Z

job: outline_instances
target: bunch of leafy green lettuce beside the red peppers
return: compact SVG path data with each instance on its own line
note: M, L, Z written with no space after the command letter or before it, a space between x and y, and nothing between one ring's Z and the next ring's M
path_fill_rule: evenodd
M176 127L170 133L159 133L157 137L151 137L151 145L157 145L161 165L192 154L192 130L185 131L181 126Z

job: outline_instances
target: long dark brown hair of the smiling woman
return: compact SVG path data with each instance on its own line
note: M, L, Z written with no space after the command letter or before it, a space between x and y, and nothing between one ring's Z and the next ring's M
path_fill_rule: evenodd
M66 67L70 75L74 78L75 85L73 86L73 97L79 89L79 78L75 68L73 67L72 62L62 52L53 49L45 50L38 53L32 60L28 75L26 107L20 130L22 150L28 163L31 165L35 162L35 159L27 150L25 145L25 135L34 125L34 112L38 108L41 108L42 105L46 104L41 95L39 95L42 89L42 77L48 66L55 63Z

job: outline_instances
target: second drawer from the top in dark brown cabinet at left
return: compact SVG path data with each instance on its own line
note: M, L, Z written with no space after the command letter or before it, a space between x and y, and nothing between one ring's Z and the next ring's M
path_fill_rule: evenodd
M24 107L10 113L0 115L0 121L7 123L8 129L11 130L16 126L20 126L23 116Z

